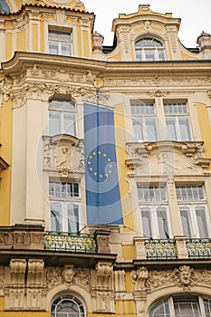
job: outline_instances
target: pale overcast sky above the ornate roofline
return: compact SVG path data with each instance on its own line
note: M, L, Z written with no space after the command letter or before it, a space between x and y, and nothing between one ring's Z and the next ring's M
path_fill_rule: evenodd
M112 45L112 20L119 14L138 12L139 5L150 5L154 12L172 13L181 18L178 37L186 47L197 46L197 36L211 34L211 0L82 0L87 11L96 14L94 30L104 36L103 45Z

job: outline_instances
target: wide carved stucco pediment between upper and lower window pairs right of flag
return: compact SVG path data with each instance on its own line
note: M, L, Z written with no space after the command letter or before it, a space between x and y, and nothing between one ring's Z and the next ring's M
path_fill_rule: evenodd
M203 141L128 143L127 149L126 165L138 175L201 174L210 164Z

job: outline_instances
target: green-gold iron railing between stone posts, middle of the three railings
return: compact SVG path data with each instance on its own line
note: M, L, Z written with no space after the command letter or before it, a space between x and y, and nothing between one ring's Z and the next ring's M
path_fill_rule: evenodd
M145 248L149 260L177 258L177 249L173 239L145 240Z

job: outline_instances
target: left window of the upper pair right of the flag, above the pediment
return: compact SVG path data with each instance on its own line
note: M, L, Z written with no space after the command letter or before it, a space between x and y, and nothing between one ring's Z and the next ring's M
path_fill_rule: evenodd
M158 140L156 109L154 102L131 101L132 124L139 141Z

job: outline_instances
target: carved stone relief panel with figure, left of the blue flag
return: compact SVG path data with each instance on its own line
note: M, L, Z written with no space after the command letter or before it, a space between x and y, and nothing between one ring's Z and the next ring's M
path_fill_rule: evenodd
M84 145L70 135L43 137L43 169L62 177L84 173Z

